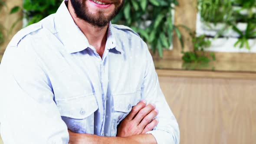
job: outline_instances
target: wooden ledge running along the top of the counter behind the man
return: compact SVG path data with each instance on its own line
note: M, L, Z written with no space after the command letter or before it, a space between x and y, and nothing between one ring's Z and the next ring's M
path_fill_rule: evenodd
M158 76L220 78L220 79L255 79L254 62L210 62L209 64L184 64L179 60L154 60Z

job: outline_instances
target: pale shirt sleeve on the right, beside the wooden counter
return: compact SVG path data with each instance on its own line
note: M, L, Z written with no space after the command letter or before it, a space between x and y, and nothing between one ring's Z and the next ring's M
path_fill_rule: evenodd
M158 75L149 51L147 51L146 59L146 70L141 95L142 99L148 103L155 104L159 111L157 116L159 120L158 125L153 131L149 131L147 134L152 134L158 144L179 144L180 131L178 123L161 91Z

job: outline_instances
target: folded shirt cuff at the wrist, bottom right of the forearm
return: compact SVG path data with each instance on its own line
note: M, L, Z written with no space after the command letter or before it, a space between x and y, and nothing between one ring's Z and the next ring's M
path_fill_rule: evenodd
M166 131L154 130L148 131L146 134L152 134L158 144L175 144L173 136Z

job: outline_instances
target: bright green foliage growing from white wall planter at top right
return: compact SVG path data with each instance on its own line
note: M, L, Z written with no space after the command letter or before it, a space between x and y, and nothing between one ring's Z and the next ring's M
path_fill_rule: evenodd
M256 37L256 13L253 13L256 0L198 0L198 6L200 16L206 25L209 23L224 24L216 38L222 36L226 30L233 29L240 35L234 46L239 45L240 48L250 49L249 39ZM247 13L242 14L243 10ZM245 31L237 27L237 23L240 22L247 24Z

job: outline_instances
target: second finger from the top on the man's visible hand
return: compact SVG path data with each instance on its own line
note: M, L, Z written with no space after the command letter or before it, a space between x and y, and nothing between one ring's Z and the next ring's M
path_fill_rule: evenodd
M155 106L152 104L147 105L146 107L142 108L138 114L133 119L136 124L141 123L142 119L145 118L151 111L155 109ZM152 120L152 119L151 119ZM150 120L150 121L151 121Z

